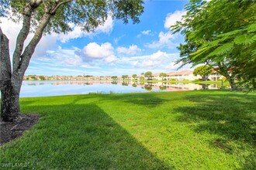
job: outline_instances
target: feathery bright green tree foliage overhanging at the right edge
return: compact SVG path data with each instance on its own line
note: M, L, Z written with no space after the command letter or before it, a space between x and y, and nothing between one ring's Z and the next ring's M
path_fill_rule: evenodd
M256 1L191 0L183 22L172 26L181 31L185 44L178 49L179 62L212 66L236 88L235 78L256 77Z

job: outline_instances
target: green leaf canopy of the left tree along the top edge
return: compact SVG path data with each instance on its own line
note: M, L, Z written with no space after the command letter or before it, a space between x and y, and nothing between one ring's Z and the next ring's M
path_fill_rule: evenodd
M33 0L5 0L9 2L12 14L16 15L16 21L22 19L22 12L26 4L33 3ZM58 0L45 0L33 11L32 26L35 28L43 17L46 8L51 8ZM65 1L62 1L65 2ZM121 1L121 0L66 0L59 7L54 17L47 25L45 32L69 32L73 26L80 26L81 30L93 32L98 26L103 25L108 17L122 19L123 23L132 20L133 23L140 22L139 16L144 12L142 0ZM71 24L72 23L72 24Z

